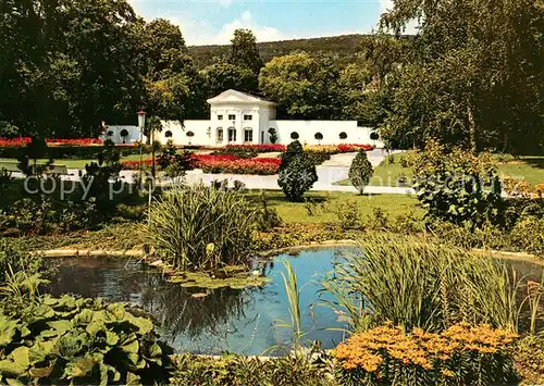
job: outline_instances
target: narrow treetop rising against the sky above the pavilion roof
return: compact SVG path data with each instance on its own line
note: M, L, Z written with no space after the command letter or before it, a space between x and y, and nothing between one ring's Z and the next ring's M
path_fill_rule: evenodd
M240 69L250 70L255 76L259 76L264 63L257 48L257 39L250 29L238 28L234 32L231 40L230 62Z

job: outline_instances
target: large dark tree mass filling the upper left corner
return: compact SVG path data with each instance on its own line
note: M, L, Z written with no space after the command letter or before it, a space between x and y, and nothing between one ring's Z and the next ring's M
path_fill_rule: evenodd
M0 120L21 134L95 136L143 95L136 15L125 0L5 0ZM82 21L85 21L83 23Z

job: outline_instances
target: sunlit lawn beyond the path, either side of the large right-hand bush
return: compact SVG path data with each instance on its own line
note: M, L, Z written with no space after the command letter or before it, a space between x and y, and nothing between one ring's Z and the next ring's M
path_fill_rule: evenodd
M387 160L384 160L380 166L374 169L374 175L370 185L399 186L398 178L403 175L409 180L412 176L411 169L400 165L400 159L405 157L406 154L395 154L395 161L392 164ZM544 183L544 157L520 157L519 159L502 161L499 155L497 155L496 159L499 174L524 179L531 187ZM349 179L343 179L337 182L336 185L349 186L351 183Z

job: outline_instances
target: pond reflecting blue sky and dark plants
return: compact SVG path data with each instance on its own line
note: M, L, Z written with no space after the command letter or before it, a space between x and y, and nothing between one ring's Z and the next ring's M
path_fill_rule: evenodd
M263 265L272 279L259 288L203 290L184 288L164 281L156 270L135 260L82 258L54 261L55 273L47 291L59 296L76 294L102 297L138 306L156 319L159 333L174 348L195 353L219 354L225 351L261 354L274 346L290 341L288 300L284 289L282 261L289 260L301 287L305 339L320 340L332 348L343 340L345 322L331 309L310 310L320 298L319 282L333 267L335 259L351 248L306 249L296 254L280 254ZM508 264L527 277L540 279L544 267L509 260ZM202 297L203 292L207 296Z

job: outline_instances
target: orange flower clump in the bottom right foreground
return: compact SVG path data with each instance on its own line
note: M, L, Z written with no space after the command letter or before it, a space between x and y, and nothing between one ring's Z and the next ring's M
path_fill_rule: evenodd
M516 334L454 325L441 334L391 324L358 333L334 349L343 385L493 385L517 381Z

